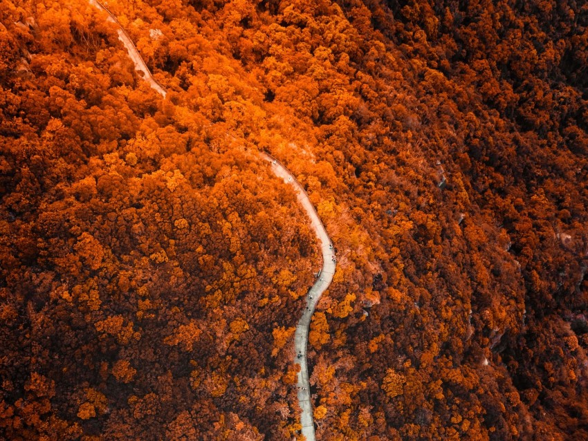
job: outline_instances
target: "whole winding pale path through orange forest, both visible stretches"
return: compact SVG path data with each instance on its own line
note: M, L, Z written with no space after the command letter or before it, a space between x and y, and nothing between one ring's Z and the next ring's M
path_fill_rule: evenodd
M116 17L108 10L108 8L98 0L89 0L89 3L96 8L107 12L108 20L115 23L118 26L118 39L122 41L122 44L127 49L129 57L135 64L135 70L143 74L143 79L149 83L149 86L154 88L160 95L165 97L166 91L161 84L154 79L151 75L151 71L145 64L145 61L139 54L136 46L133 44L131 37L125 32L120 26L120 23ZM304 208L306 214L311 219L313 230L320 242L320 248L322 252L322 269L320 275L313 287L306 294L306 306L302 312L302 317L298 321L296 331L294 334L294 363L300 365L300 371L298 372L297 381L297 395L298 403L300 404L300 424L302 425L302 435L306 437L306 441L315 441L315 428L313 420L313 406L311 402L311 392L309 384L309 370L306 363L306 346L309 339L309 326L311 324L311 317L315 310L316 304L318 303L322 293L329 288L331 281L333 280L333 274L335 274L336 259L333 250L331 239L327 234L327 230L324 229L324 225L318 216L318 213L313 207L309 195L306 194L300 182L298 182L286 167L282 165L277 159L270 156L268 153L261 153L261 157L264 160L270 162L270 167L278 178L282 178L284 182L290 184L296 192L298 202Z

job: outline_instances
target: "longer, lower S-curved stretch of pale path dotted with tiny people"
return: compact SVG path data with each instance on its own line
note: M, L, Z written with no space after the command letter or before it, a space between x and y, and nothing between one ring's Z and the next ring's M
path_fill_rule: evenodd
M300 185L300 182L282 165L279 161L272 158L267 153L261 153L265 160L271 162L272 171L276 176L282 178L284 182L292 185L296 191L298 202L304 207L304 211L311 218L311 223L315 234L320 241L320 250L322 252L322 270L320 277L317 279L309 293L306 295L306 308L302 312L302 317L296 326L294 334L294 362L300 364L300 372L298 373L298 402L302 409L300 413L300 424L302 424L302 435L306 437L306 441L315 441L315 427L313 420L313 406L311 403L311 391L309 384L309 369L306 364L306 344L309 340L309 326L311 324L311 317L315 310L322 293L329 288L335 274L336 261L333 260L335 250L332 249L331 239L327 230L318 217L318 213L313 207L309 196ZM300 355L300 357L298 356Z

